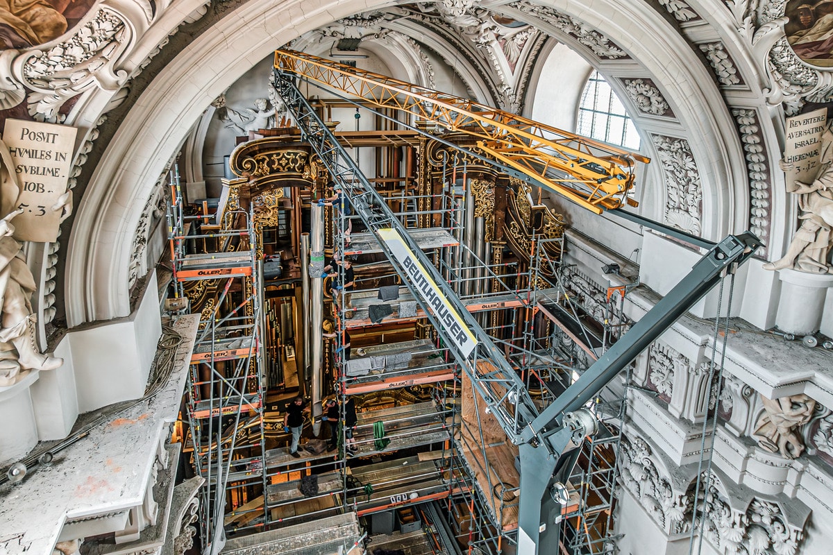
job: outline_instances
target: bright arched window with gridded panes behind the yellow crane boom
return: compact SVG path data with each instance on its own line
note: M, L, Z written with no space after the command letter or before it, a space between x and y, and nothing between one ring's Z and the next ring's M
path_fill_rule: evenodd
M638 151L639 133L611 86L592 72L581 93L576 133Z

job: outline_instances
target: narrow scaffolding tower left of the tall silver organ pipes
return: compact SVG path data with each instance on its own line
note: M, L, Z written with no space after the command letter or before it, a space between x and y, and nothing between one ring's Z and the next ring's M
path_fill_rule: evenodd
M252 214L187 216L175 167L167 211L174 296L188 282L218 291L202 310L187 382L185 411L192 464L201 490L201 537L214 538L227 507L248 503L267 488L264 471L262 268ZM212 248L213 247L213 248ZM262 521L267 504L263 504Z

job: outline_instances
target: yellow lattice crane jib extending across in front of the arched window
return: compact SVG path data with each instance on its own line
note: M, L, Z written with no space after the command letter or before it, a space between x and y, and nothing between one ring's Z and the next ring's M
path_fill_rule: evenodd
M416 120L475 136L481 151L597 214L636 206L628 196L636 162L649 161L636 152L303 52L277 50L275 68L376 107L406 111Z

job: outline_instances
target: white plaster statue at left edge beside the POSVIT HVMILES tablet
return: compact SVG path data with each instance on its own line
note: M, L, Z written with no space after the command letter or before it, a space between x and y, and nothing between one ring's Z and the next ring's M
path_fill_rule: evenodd
M22 211L15 209L20 186L12 170L12 156L0 141L0 386L12 385L30 369L53 370L63 364L42 354L35 339L37 316L32 312L32 293L37 289L32 271L23 258L21 244L12 237L12 218ZM62 195L52 211L62 211L62 221L69 216L72 196ZM66 209L66 210L65 210Z

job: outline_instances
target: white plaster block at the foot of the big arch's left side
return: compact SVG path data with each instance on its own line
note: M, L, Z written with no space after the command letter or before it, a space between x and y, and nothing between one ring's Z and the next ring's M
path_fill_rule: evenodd
M144 394L162 334L155 273L148 283L129 319L69 334L80 412Z

